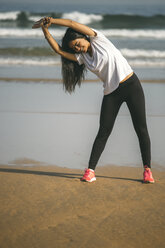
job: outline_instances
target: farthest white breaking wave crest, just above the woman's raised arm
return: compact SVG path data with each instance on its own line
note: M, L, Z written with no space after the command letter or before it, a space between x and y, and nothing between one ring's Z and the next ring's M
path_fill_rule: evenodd
M62 18L72 19L74 21L77 21L83 24L89 24L92 22L101 21L103 19L103 16L96 15L96 14L85 14L85 13L80 13L78 11L74 11L71 13L64 13L62 15Z

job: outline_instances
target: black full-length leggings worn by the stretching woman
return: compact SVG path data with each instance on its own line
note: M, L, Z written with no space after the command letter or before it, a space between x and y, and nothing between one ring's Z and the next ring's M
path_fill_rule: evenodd
M151 148L146 124L144 93L141 83L134 73L129 79L121 83L115 91L109 95L105 95L103 98L100 114L100 128L93 144L88 168L95 169L123 102L126 102L129 108L132 122L139 139L143 166L151 166Z

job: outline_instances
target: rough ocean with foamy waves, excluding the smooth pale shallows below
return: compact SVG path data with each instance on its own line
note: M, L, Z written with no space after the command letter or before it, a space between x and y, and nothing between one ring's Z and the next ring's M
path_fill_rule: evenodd
M42 9L43 8L43 9ZM4 5L0 9L0 66L55 66L59 57L49 48L40 29L31 29L43 16L70 18L101 30L134 68L162 74L165 67L165 5L115 7L95 5ZM47 11L47 12L46 12ZM65 28L53 26L60 43ZM161 70L162 69L162 70ZM150 73L149 73L150 74ZM157 76L158 76L157 75Z

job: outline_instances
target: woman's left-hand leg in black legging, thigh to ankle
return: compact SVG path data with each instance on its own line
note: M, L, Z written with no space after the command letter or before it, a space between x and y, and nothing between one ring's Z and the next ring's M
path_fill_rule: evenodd
M119 91L120 89L118 88L113 93L106 95L103 98L100 114L100 127L93 144L88 166L89 169L95 169L114 126L116 116L122 104Z

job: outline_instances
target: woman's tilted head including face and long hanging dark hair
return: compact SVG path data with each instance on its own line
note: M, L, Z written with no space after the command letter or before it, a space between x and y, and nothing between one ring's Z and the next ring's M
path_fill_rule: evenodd
M69 53L87 52L90 46L89 38L71 28L66 30L62 39L62 50ZM73 92L75 86L81 85L81 81L85 77L85 65L79 65L78 62L68 60L64 57L62 59L62 76L63 85L66 91Z

